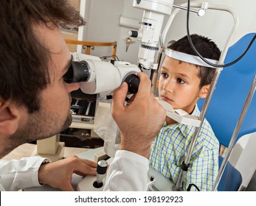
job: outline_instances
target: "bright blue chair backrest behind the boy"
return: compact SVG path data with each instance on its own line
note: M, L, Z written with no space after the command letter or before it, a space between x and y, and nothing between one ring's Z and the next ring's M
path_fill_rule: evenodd
M245 35L231 46L224 62L230 63L239 57L249 45L254 35L255 33ZM206 118L210 122L218 141L224 146L229 145L255 74L256 42L252 44L249 51L238 63L221 71ZM201 108L202 104L204 104L204 99L198 101L198 107ZM238 133L238 138L256 132L255 114L256 95L253 97L247 110L243 125Z

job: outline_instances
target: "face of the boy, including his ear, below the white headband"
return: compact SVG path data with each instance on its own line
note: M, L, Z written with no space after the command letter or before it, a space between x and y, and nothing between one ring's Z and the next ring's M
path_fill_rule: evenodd
M159 98L171 104L173 109L192 113L198 99L205 98L209 89L209 85L199 89L199 69L165 56L159 78Z

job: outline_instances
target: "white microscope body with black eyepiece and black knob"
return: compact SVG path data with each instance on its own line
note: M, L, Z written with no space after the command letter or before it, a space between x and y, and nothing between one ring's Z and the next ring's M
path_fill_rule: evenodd
M101 64L104 63L104 65L99 65L98 67L96 66L99 63L98 61L95 61L94 64L89 64L88 62L86 60L72 61L69 70L64 74L64 81L69 84L83 82L83 86L80 86L85 93L87 91L89 93L105 92L107 87L110 87L111 91L113 91L122 82L128 84L128 93L136 93L138 91L139 77L134 74L136 73L134 68L129 68L128 65L123 64L116 66L107 62L100 62ZM87 85L84 85L85 82L88 82Z

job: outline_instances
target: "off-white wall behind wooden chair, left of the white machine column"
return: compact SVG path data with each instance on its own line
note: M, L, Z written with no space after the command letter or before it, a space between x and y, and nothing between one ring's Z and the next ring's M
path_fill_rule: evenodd
M87 30L83 35L83 40L90 41L117 41L117 57L131 63L136 63L138 53L138 43L132 43L128 52L125 52L125 38L128 38L128 31L131 28L119 25L120 16L124 15L129 18L142 18L142 10L132 7L131 0L86 0L90 2L90 14L86 19ZM138 22L139 24L139 22ZM97 47L91 54L110 56L111 49L107 47Z

